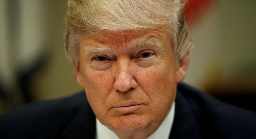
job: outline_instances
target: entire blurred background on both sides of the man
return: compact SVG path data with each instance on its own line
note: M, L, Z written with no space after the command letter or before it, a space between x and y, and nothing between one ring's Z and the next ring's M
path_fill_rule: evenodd
M184 82L256 112L256 1L189 0L193 39ZM0 114L69 96L76 83L63 47L65 0L0 0Z

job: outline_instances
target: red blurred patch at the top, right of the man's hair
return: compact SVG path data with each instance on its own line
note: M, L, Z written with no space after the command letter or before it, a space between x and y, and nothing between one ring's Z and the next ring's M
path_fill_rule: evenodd
M185 19L190 27L195 21L207 13L216 0L188 0L184 6Z

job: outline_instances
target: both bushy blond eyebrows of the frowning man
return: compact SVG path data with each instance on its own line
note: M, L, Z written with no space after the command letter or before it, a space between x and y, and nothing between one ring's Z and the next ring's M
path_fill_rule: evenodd
M135 38L131 41L131 46L129 48L155 48L162 50L163 45L160 43L159 39L157 37L139 37ZM86 57L89 57L89 55L94 53L104 53L107 51L111 51L111 48L106 47L100 47L100 46L85 46L84 47L84 53Z

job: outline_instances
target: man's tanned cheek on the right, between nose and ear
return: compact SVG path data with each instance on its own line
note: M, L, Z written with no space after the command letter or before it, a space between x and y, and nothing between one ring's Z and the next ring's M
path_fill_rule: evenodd
M150 98L152 110L168 110L175 96L175 76L174 65L166 63L146 68L137 76L137 82Z

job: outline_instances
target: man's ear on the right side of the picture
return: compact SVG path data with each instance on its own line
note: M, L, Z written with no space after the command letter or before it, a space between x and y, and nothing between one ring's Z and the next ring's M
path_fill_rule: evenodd
M181 82L186 74L189 67L189 59L190 59L190 50L187 51L184 56L179 59L177 62L177 71L176 71L176 83Z

